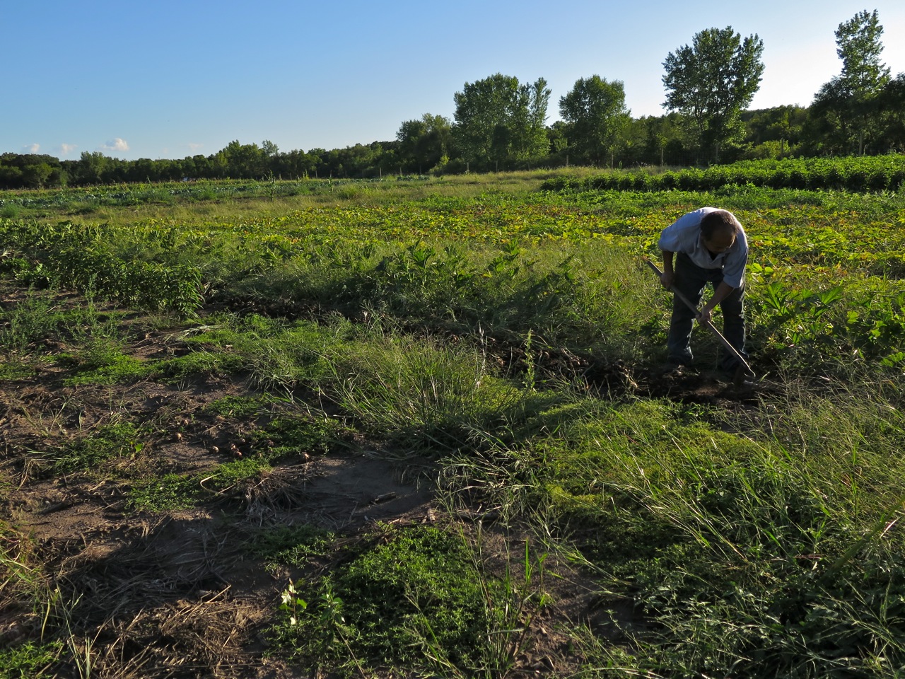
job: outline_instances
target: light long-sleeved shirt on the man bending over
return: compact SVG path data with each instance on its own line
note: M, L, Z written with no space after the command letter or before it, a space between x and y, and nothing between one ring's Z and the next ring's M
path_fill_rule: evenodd
M663 229L658 246L663 252L685 253L702 269L722 269L723 282L733 288L740 288L745 280L745 265L748 263L748 236L738 229L735 243L725 253L716 256L704 246L700 234L700 220L718 207L701 207L699 210L682 215Z

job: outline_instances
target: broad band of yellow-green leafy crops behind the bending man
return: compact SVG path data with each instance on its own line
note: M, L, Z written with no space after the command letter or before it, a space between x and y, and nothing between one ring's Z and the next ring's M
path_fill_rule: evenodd
M377 313L515 344L533 333L611 350L631 344L625 333L651 313L642 297L650 281L633 266L658 258L662 227L700 205L727 207L746 227L752 345L762 356L903 359L905 206L894 195L745 186L432 196L238 222L0 221L0 268L149 309L190 313L204 295L277 315ZM655 308L665 313L665 301Z

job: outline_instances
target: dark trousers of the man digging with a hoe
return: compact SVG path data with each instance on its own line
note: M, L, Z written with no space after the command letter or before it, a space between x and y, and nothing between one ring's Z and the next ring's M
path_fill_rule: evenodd
M681 292L695 307L700 305L700 298L708 283L717 289L723 281L721 269L702 269L691 262L687 254L676 253L676 262L673 266L675 281L672 289ZM723 312L723 336L729 341L745 360L748 354L745 352L745 284L734 290L729 297L719 302L719 309ZM691 327L695 318L694 311L685 305L678 296L672 298L672 321L670 322L670 334L666 340L666 347L670 352L670 360L676 363L691 363ZM731 371L738 368L738 359L729 353L725 347L720 347L719 369Z

